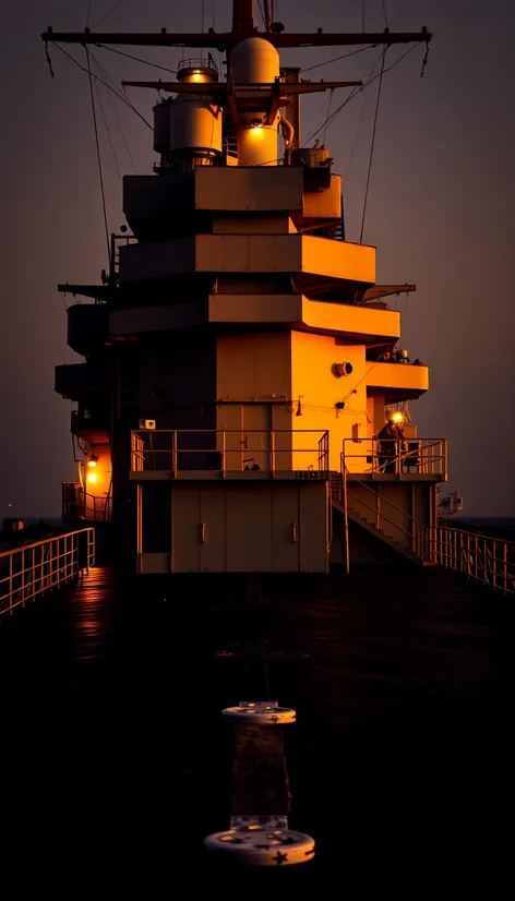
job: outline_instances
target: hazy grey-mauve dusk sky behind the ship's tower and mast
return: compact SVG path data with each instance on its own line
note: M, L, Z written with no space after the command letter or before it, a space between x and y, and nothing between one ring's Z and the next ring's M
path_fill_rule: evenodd
M53 367L81 358L65 343L72 298L63 299L57 284L98 281L106 240L87 76L50 46L51 79L39 35L48 25L82 31L89 5L95 25L115 0L24 0L2 10L0 519L58 516L60 482L76 478L74 405L53 393ZM202 5L122 0L100 28L200 31ZM367 29L384 27L384 7L392 31L427 25L434 38L423 79L423 46L384 76L364 241L378 247L379 283L417 284L409 301L398 299L400 346L431 367L431 392L411 404L411 416L421 436L450 439L448 489L460 491L466 514L515 515L515 3L367 0ZM288 31L306 32L360 31L361 8L362 0L276 3ZM228 28L230 12L230 0L205 0L205 28ZM83 48L64 49L85 64ZM182 56L121 49L170 69ZM349 49L282 58L308 69ZM391 48L386 64L406 49ZM93 52L117 85L159 77L108 50ZM369 49L306 77L360 79L379 53ZM359 240L376 85L345 107L325 137L334 171L344 176L351 241ZM118 230L117 163L122 175L145 173L156 157L146 125L101 85L99 92L116 152L115 160L98 107L109 228ZM133 88L128 96L151 120L155 95ZM333 109L345 96L335 94ZM327 99L304 101L304 137L324 120Z

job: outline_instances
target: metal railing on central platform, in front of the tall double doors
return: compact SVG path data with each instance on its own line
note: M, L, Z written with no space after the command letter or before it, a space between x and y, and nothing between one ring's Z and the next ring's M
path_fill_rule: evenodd
M308 435L308 437L306 437ZM307 446L308 445L308 446ZM152 430L131 434L131 471L327 471L330 437L322 429Z

